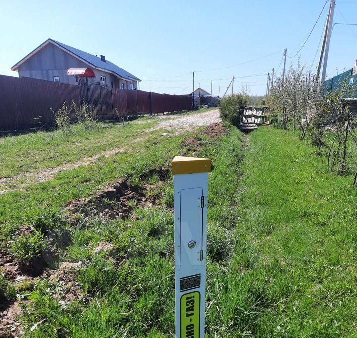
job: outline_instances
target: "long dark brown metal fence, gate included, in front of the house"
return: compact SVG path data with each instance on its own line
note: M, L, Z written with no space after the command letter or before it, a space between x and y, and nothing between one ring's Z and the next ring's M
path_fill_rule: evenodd
M0 130L53 126L63 103L86 102L99 120L141 113L164 113L192 109L191 95L167 95L141 90L110 88L100 82L78 85L0 75ZM75 120L75 116L72 116Z

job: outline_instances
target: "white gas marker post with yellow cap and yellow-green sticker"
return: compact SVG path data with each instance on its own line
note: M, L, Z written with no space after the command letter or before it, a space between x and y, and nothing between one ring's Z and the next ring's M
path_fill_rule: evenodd
M206 291L207 191L211 160L175 156L176 338L203 338Z

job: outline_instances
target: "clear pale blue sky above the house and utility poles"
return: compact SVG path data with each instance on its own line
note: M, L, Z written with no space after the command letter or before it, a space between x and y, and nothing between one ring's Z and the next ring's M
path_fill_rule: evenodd
M192 71L196 71L196 87L210 92L213 79L213 95L220 92L222 96L232 76L251 75L259 76L237 78L234 91L246 82L252 94L265 94L266 73L278 68L284 48L288 56L298 51L324 3L1 0L0 74L17 76L10 67L47 38L53 38L105 55L141 78L142 90L189 93ZM318 49L327 9L328 5L300 52L301 62L308 68ZM336 0L334 22L357 23L356 12L357 0ZM327 74L335 75L336 68L352 68L357 58L357 26L336 25L330 46ZM312 70L317 61L318 54ZM287 66L290 62L296 62L296 58L288 58ZM238 65L241 63L245 64ZM278 72L281 70L282 64Z

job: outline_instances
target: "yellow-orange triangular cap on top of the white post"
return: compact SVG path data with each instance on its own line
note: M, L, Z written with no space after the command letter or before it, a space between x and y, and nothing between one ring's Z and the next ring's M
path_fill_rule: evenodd
M175 156L171 165L173 175L208 173L211 171L210 158Z

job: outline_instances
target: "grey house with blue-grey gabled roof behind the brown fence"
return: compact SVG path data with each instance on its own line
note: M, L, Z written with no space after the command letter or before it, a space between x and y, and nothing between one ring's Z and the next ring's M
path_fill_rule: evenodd
M78 84L78 75L67 75L70 68L90 68L98 81L111 88L138 88L141 80L106 59L83 52L53 39L47 39L26 55L11 70L18 71L19 77Z

